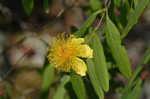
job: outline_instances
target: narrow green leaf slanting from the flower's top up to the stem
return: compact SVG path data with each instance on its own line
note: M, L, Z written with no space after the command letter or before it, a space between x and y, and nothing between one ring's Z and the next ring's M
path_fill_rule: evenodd
M94 12L87 20L86 22L81 26L81 28L76 31L74 33L74 35L78 36L78 37L83 37L87 31L87 29L93 24L94 20L96 19L96 16L102 12L104 12L106 9L101 9L101 10L98 10L96 12Z

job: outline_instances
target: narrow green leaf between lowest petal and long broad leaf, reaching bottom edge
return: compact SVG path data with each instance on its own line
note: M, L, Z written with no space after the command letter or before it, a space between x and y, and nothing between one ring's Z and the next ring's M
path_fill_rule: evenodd
M92 59L87 59L87 67L88 67L88 74L91 80L91 83L93 85L93 88L98 95L99 99L104 99L104 92L102 90L102 87L99 84L97 74L95 73L95 64L93 63Z

